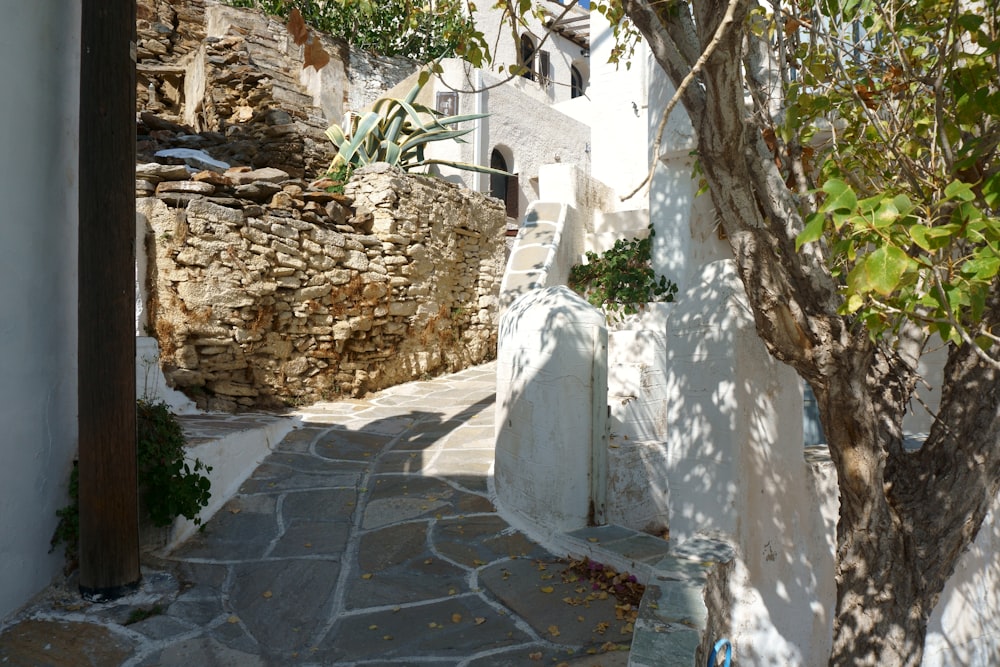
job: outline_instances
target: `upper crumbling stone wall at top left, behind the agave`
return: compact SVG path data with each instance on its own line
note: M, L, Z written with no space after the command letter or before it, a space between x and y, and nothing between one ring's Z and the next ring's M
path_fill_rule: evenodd
M303 43L277 17L217 0L138 0L136 31L145 162L161 148L198 148L316 178L334 154L326 128L417 68L312 31Z

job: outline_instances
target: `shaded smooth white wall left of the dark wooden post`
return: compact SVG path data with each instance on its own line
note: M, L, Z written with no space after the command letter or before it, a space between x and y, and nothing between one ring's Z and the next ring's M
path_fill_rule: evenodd
M0 24L0 621L58 573L55 511L77 442L80 7Z

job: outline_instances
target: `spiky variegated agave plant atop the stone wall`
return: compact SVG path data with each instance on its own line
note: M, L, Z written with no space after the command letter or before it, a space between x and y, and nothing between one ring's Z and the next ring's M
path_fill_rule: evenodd
M375 102L371 111L360 115L348 114L344 127L334 124L327 128L326 136L337 147L337 155L330 163L329 171L343 170L345 166L353 168L388 162L406 170L440 164L467 171L505 174L490 167L426 156L427 144L449 139L462 142L462 137L473 128L458 129L455 126L485 118L488 114L445 116L415 101L423 85L424 81L418 80L403 99L383 97Z

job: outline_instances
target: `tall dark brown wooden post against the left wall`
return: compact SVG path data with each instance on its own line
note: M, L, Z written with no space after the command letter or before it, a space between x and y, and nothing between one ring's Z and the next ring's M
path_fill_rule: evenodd
M135 2L83 0L80 592L139 584L135 409Z

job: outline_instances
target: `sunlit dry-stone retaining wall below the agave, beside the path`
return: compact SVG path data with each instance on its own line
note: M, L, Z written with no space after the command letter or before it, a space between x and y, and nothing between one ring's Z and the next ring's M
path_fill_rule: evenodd
M387 165L344 196L276 169L137 167L164 373L199 407L359 395L488 361L505 215Z

